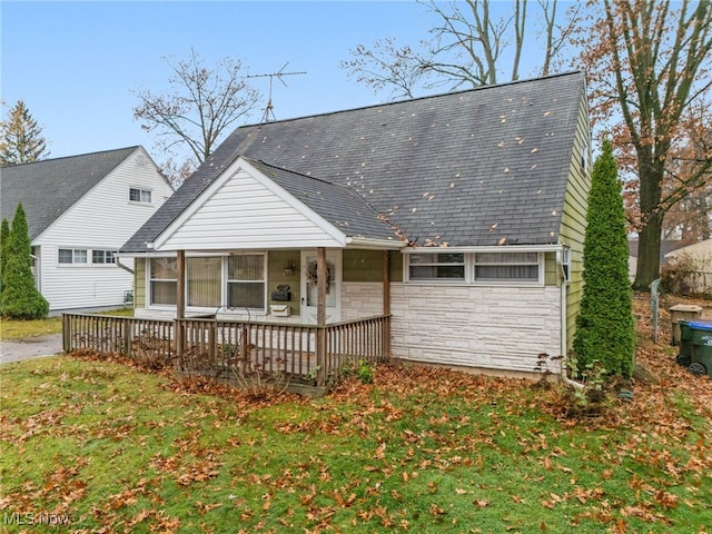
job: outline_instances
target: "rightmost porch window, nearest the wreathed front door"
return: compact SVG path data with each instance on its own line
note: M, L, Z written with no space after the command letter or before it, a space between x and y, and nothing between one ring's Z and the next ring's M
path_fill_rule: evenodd
M227 305L265 309L265 255L245 254L227 260Z

